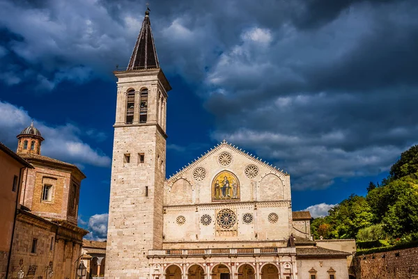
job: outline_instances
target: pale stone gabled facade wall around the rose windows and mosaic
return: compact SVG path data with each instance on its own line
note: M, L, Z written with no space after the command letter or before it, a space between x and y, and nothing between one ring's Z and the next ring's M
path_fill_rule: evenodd
M231 162L226 166L218 160L225 153L231 156ZM253 166L257 172L246 174L247 166ZM204 170L204 175L196 177L199 169ZM212 201L212 183L224 170L236 176L239 200ZM292 221L290 192L289 175L222 143L167 180L164 187L164 248L178 247L178 243L184 241L189 248L199 247L201 241L224 247L226 242L242 241L242 247L256 247L258 241L288 239ZM236 226L229 233L218 228L217 213L221 209L231 209L236 216ZM251 214L251 221L243 221L245 214ZM270 222L270 214L277 214L277 221ZM203 216L209 216L210 221L203 224ZM183 217L185 222L177 223L177 218Z

